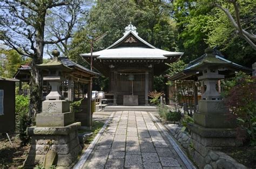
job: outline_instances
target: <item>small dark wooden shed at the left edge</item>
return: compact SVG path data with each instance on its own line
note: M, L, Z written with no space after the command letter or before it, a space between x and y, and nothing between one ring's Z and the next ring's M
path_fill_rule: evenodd
M0 133L15 130L15 82L19 80L0 77Z

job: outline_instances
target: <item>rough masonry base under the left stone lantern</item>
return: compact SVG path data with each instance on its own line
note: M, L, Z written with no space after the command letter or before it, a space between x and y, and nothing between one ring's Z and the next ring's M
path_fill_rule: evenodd
M77 136L80 125L72 123L63 127L29 127L28 134L32 140L24 167L33 168L37 164L43 164L51 141L50 149L57 153L56 165L70 168L82 150Z

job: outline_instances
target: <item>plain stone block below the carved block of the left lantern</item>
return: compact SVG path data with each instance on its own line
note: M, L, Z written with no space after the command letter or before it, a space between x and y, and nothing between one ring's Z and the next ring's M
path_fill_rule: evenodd
M39 113L36 117L37 127L63 127L74 122L73 112L66 113Z

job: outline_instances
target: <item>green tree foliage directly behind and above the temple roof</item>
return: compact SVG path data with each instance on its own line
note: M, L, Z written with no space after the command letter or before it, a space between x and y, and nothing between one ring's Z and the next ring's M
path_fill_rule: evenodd
M131 22L139 36L160 49L176 51L176 23L164 2L98 1L86 16L87 24L79 30L71 44L69 56L79 61L80 53L90 52L90 39L107 32L102 40L93 43L93 51L105 49L123 36Z

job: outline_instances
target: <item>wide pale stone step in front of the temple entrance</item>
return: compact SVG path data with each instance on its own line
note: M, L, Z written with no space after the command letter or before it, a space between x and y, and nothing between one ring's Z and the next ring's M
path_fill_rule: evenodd
M146 111L157 112L156 106L106 106L104 112L114 111Z

